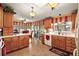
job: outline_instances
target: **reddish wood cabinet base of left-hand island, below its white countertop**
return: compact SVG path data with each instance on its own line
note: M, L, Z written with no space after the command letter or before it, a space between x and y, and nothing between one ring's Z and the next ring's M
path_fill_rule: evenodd
M4 43L5 43L4 50L6 51L6 53L9 53L11 51L29 46L29 36L25 35L25 36L16 36L12 38L5 38Z

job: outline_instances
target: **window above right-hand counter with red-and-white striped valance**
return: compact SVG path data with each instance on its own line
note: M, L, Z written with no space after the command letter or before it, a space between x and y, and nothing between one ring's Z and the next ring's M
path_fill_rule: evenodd
M76 14L61 16L54 18L55 31L74 31L75 30Z

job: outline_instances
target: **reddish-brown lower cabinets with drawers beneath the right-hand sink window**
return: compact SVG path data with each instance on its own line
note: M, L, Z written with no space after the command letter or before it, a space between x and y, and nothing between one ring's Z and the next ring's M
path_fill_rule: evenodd
M73 53L74 49L76 48L75 38L53 35L52 46L62 49L68 53Z

